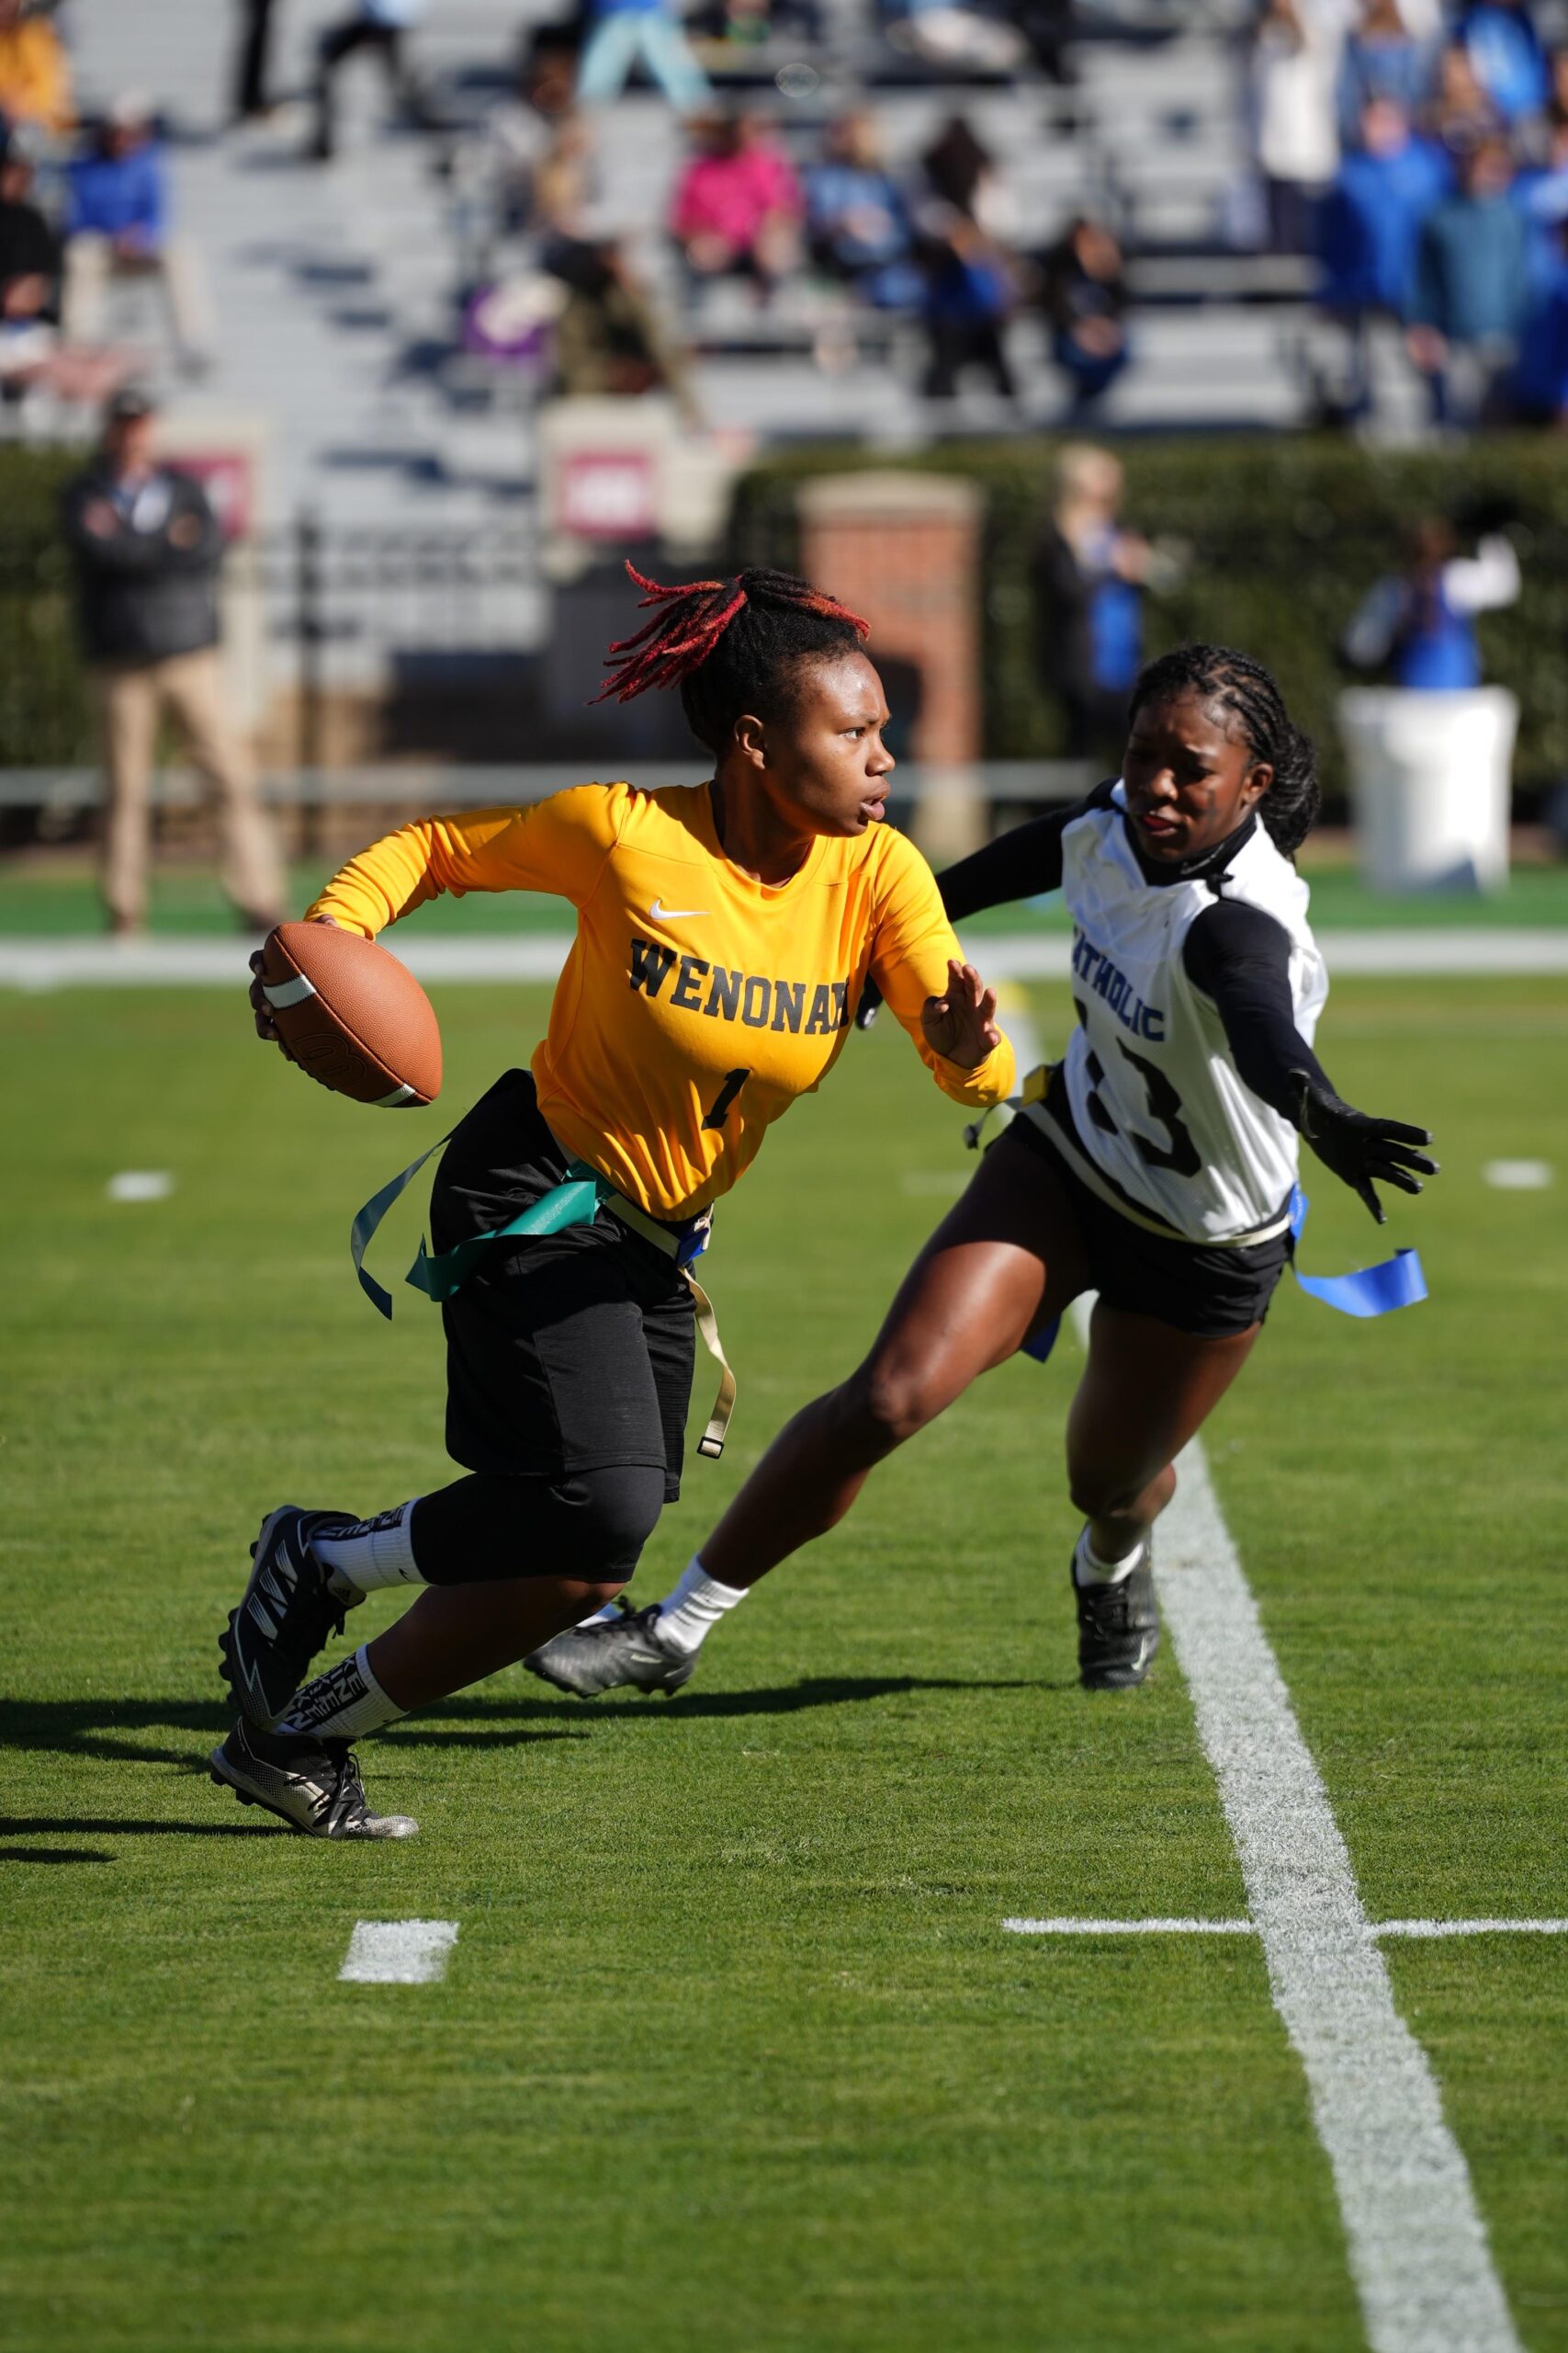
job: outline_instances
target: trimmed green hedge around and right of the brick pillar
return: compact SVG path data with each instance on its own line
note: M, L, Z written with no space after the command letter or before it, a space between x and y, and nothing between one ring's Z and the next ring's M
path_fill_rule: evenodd
M910 466L985 489L985 753L1048 758L1063 720L1034 675L1027 565L1056 442L952 442L912 459L811 449L748 473L731 513L731 565L790 562L795 487L816 473ZM1523 713L1516 774L1568 774L1568 442L1505 435L1465 452L1375 452L1345 440L1131 440L1126 522L1190 551L1178 588L1147 605L1147 649L1190 638L1239 645L1279 675L1293 715L1340 784L1335 645L1361 595L1399 558L1401 527L1427 513L1460 525L1507 513L1526 586L1481 621L1486 675ZM893 534L889 558L896 558ZM832 584L825 584L832 586Z

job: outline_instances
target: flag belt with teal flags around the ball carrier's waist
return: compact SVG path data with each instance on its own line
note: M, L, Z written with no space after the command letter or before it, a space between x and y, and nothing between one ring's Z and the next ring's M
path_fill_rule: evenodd
M402 1169L402 1174L393 1176L390 1184L383 1184L378 1193L371 1193L371 1198L357 1212L348 1231L348 1254L355 1261L355 1275L360 1278L360 1289L364 1292L369 1304L381 1315L386 1315L388 1322L393 1320L393 1294L383 1289L371 1273L364 1271L364 1252L369 1249L376 1226L393 1207L397 1195L414 1184L430 1153L440 1153L442 1144L447 1141L449 1136L442 1136L440 1144L433 1144L428 1153L421 1153L418 1160L411 1160L407 1169ZM574 1158L567 1165L562 1184L550 1186L550 1191L541 1193L538 1200L529 1202L527 1209L520 1209L517 1217L510 1217L505 1226L494 1226L489 1233L473 1233L468 1235L465 1242L456 1242L451 1249L442 1249L440 1257L435 1259L425 1249L421 1235L418 1257L414 1259L414 1266L404 1275L404 1282L411 1282L416 1292L423 1292L425 1299L440 1304L442 1299L451 1299L456 1292L463 1289L463 1285L468 1282L470 1273L475 1271L475 1266L480 1264L491 1242L529 1240L531 1235L543 1235L543 1233L564 1233L567 1226L592 1226L599 1209L609 1209L616 1224L630 1226L630 1231L639 1233L644 1242L654 1245L654 1249L661 1249L668 1259L675 1259L675 1266L686 1289L691 1292L691 1304L696 1308L696 1327L703 1334L703 1346L708 1348L708 1355L719 1367L719 1393L712 1400L708 1428L698 1438L696 1449L698 1454L710 1454L717 1459L724 1452L724 1433L729 1428L729 1417L736 1409L736 1377L729 1369L729 1358L724 1355L724 1341L719 1339L719 1320L712 1313L712 1299L691 1273L691 1261L701 1259L701 1254L708 1249L708 1235L712 1231L712 1209L703 1209L701 1217L689 1219L684 1226L661 1226L656 1217L649 1217L646 1209L639 1209L635 1200L625 1198L625 1193L616 1193L609 1176L599 1176L599 1172L590 1167L588 1160Z

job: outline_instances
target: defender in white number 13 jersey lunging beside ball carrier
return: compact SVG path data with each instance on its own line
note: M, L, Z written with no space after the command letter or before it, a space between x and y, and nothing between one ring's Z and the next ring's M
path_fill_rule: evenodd
M536 1673L675 1689L717 1617L832 1527L875 1464L1095 1292L1067 1417L1079 1675L1143 1682L1150 1532L1291 1257L1300 1139L1378 1221L1373 1181L1420 1193L1436 1167L1422 1127L1352 1111L1314 1054L1326 976L1293 852L1316 807L1312 744L1269 673L1190 645L1140 675L1119 781L938 878L954 922L1063 889L1079 1014L1063 1061L1025 1087L865 1362L773 1440L675 1593L557 1635Z

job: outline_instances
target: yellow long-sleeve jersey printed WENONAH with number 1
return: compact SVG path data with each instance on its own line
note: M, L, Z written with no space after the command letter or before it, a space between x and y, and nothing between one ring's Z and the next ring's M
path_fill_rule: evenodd
M769 1125L839 1059L867 972L943 1094L985 1108L1013 1049L973 1071L926 1045L919 1009L959 953L931 868L900 833L818 838L788 882L724 856L710 786L583 784L527 809L428 816L327 885L313 915L374 939L440 892L571 899L576 941L534 1052L559 1141L651 1217L705 1209Z

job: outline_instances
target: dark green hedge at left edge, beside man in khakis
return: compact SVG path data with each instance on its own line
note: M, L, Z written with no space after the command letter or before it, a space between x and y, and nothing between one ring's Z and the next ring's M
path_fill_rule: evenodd
M82 449L0 445L0 767L94 758L59 496Z

